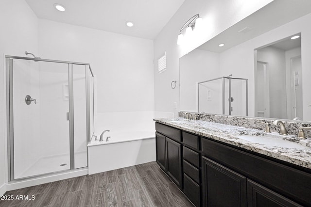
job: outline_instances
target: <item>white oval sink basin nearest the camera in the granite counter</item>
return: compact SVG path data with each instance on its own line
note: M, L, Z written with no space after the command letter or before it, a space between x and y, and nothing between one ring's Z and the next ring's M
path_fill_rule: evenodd
M237 137L242 140L247 140L252 143L265 144L268 146L286 147L286 148L294 148L294 149L310 149L309 147L303 146L298 143L293 143L290 141L272 138L268 136L240 135Z

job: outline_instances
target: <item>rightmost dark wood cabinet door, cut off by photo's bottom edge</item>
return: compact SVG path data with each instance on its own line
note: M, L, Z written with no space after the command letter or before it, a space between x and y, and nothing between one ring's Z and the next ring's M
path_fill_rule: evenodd
M247 203L249 207L301 207L249 179L247 180Z

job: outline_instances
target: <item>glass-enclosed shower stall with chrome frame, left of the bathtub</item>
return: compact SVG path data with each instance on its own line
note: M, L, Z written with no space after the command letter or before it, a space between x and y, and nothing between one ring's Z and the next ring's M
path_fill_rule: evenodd
M90 65L5 58L9 181L86 168L94 132Z

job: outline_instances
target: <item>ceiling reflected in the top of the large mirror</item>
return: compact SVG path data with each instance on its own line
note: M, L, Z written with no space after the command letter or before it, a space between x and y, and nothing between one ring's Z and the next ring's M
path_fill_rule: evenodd
M311 0L274 0L198 49L221 53L309 13L311 13ZM225 46L219 47L221 43Z

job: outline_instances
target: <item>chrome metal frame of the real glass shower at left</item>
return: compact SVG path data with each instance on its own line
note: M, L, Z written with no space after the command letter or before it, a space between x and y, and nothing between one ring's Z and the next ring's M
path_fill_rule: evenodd
M50 62L50 63L63 63L68 64L68 74L69 74L69 157L70 157L70 169L58 172L66 172L75 169L74 168L74 114L73 114L73 65L85 65L85 74L86 74L86 143L89 143L91 140L90 136L90 94L89 94L89 71L91 76L94 77L91 70L90 64L88 63L78 63L78 62L69 62L69 61L60 61L60 60L49 60L49 59L36 59L28 57L18 57L18 56L9 56L5 55L6 61L6 109L7 109L7 158L8 158L8 181L14 180L23 180L30 177L36 177L40 175L50 175L55 172L48 174L34 175L24 178L14 178L14 122L13 122L13 59L21 60L31 60L36 62ZM87 65L89 68L87 68ZM93 87L93 86L91 86ZM93 111L94 112L94 111ZM94 115L93 115L94 117ZM86 148L87 150L87 148ZM88 166L88 163L87 163ZM87 168L83 167L83 168ZM79 168L82 169L82 168Z

